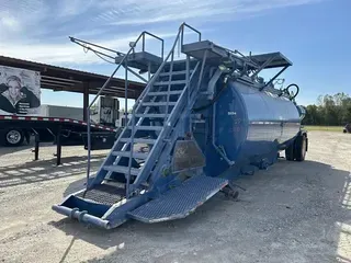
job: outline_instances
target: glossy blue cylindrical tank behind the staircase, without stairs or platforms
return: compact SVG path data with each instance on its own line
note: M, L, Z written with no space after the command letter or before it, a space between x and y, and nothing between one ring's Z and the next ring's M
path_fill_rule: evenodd
M302 133L304 108L287 92L283 94L273 85L260 90L237 80L218 80L217 93L212 107L202 112L207 121L207 138L195 133L206 156L208 175L217 176L228 168L233 176L267 168L282 150L288 151L287 158L296 159L288 155L294 155L294 141Z

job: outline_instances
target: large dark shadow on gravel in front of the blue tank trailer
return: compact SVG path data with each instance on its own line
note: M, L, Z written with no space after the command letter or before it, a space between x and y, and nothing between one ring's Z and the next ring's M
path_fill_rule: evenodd
M351 240L350 171L280 160L236 183L247 190L238 202L219 193L180 220L131 220L109 231L69 218L49 225L73 240L113 249L88 262L214 262L219 254L226 255L220 262L242 262L242 254L246 262L351 262L342 249ZM273 243L282 247L274 250Z

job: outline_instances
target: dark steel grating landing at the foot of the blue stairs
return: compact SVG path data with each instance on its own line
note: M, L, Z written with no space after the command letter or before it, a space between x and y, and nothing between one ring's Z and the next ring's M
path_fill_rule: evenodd
M107 184L95 185L92 190L89 190L83 197L84 192L77 194L77 197L82 199L93 201L94 203L112 206L113 204L125 198L125 190L122 187L115 187Z

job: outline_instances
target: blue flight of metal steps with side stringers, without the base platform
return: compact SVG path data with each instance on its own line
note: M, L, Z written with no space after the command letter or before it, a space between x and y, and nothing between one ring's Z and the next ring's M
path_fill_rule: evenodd
M148 180L154 178L155 181L155 173L160 172L158 168L162 164L160 156L169 155L179 135L179 132L177 135L172 133L174 126L179 124L179 116L190 118L185 116L190 114L185 105L194 104L196 99L196 89L191 90L190 87L193 87L194 79L199 78L201 62L191 60L190 57L174 61L176 46L182 38L182 34L183 25L169 55L136 101L132 118L87 191L102 183L117 181L125 183L126 198L128 198L148 186ZM201 39L200 33L199 39ZM127 61L132 65L136 64L133 58ZM189 130L182 130L182 134L186 132ZM147 145L149 150L136 152L137 144ZM171 147L166 147L167 145Z

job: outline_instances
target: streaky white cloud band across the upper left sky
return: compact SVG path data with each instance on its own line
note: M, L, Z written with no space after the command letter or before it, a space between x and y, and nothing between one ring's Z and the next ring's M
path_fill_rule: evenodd
M1 0L0 55L57 65L99 64L103 61L91 53L83 54L67 36L87 37L126 52L138 30L148 26L159 27L157 32L170 38L177 34L178 22L227 21L316 1L319 0Z

